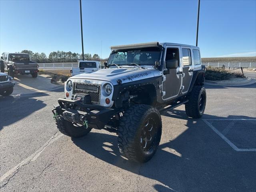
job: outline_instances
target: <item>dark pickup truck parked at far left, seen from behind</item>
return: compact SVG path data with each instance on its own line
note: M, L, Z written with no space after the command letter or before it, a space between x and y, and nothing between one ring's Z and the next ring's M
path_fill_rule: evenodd
M8 75L14 78L15 74L31 74L37 77L38 64L30 61L30 57L25 53L3 53L0 60L1 72L8 71Z

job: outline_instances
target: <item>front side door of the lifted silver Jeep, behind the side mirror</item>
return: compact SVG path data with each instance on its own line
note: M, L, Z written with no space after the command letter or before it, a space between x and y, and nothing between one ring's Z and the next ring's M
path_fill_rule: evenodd
M180 47L179 46L166 46L164 67L167 60L178 60L177 69L166 69L163 81L163 100L168 100L178 96L182 86L182 67L180 63Z

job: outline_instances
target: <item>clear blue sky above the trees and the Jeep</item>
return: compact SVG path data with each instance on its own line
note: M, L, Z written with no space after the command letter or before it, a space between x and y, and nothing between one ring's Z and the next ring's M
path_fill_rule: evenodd
M140 42L195 45L197 0L82 1L84 52ZM256 56L256 1L201 0L202 57ZM0 53L82 52L78 0L0 0Z

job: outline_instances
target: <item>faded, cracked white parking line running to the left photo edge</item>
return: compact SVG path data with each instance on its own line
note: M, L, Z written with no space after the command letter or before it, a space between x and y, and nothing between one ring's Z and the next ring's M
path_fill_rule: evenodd
M58 132L57 132L58 133ZM56 133L56 134L57 134ZM6 172L3 176L0 177L0 183L2 181L4 181L6 178L8 178L13 172L15 172L14 174L16 174L19 170L20 167L29 164L30 162L33 162L34 160L36 160L40 154L46 149L46 147L48 145L50 145L51 143L53 143L54 141L58 140L59 138L61 138L63 136L63 134L59 134L56 136L56 134L54 134L54 136L52 136L42 147L40 147L36 152L34 152L32 155L30 155L28 158L24 159L22 162L20 162L18 165L14 166L13 168L11 168L8 172Z

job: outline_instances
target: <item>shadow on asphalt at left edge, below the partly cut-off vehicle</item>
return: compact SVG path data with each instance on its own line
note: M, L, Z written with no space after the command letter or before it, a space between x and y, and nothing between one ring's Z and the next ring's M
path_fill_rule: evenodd
M35 96L47 96L45 93L32 94ZM10 107L11 106L11 107ZM19 96L0 96L0 131L3 126L8 126L14 122L25 118L33 112L42 109L46 104L34 98Z

